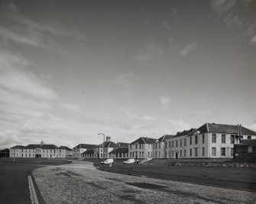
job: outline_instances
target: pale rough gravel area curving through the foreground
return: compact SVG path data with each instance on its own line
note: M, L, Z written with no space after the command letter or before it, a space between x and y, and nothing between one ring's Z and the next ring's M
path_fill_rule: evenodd
M33 176L46 203L256 202L256 193L113 174L85 161L39 168Z

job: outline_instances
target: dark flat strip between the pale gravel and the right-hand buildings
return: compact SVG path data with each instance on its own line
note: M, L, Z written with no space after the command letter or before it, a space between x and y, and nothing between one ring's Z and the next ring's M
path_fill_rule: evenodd
M159 167L156 165L99 165L100 170L118 174L154 177L208 186L256 192L254 167Z

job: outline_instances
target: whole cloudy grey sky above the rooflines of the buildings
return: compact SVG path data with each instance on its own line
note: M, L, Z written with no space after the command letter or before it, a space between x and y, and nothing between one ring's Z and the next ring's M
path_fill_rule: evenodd
M0 148L256 131L256 1L0 1Z

